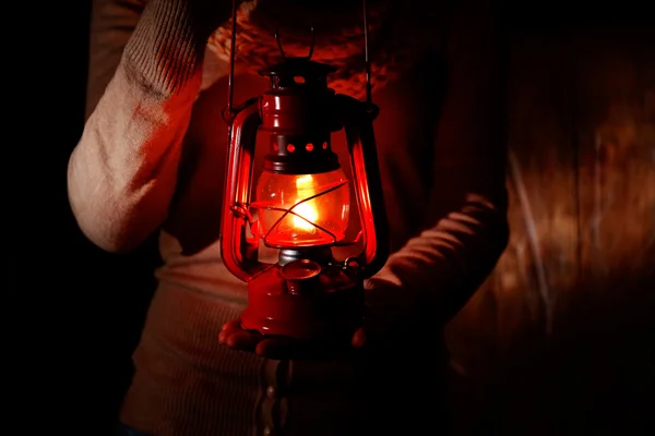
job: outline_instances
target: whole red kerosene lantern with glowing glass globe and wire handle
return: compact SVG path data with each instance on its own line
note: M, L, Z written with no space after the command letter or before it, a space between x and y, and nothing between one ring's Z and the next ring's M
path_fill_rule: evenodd
M366 44L366 3L364 10ZM233 13L231 47L235 23ZM221 247L228 270L248 283L241 326L298 340L349 342L364 318L364 279L388 257L368 50L366 101L327 87L327 75L336 69L311 61L310 50L307 58L285 58L261 71L271 88L238 109L231 108L231 51ZM281 51L284 58L282 46ZM364 246L358 256L346 259L335 259L331 250L347 243L350 205L349 181L331 147L332 133L341 130L352 158ZM258 132L267 134L270 149L252 202ZM257 259L260 241L279 250L277 264Z

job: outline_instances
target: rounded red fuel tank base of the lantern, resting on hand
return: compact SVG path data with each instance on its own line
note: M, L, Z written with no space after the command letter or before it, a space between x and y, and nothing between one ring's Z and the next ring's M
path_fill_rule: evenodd
M350 342L364 319L364 284L340 268L321 268L314 286L296 292L275 265L248 283L241 326L301 341Z

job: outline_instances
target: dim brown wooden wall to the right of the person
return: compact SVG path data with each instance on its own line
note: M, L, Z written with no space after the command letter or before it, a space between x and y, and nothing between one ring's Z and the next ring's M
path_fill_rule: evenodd
M510 36L512 234L448 327L460 434L642 434L655 413L653 28Z

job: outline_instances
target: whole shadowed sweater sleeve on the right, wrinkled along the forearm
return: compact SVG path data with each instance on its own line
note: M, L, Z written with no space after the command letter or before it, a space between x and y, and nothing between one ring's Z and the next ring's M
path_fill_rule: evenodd
M446 322L508 243L503 45L484 3L458 3L452 21L426 230L367 283L369 304L386 318Z

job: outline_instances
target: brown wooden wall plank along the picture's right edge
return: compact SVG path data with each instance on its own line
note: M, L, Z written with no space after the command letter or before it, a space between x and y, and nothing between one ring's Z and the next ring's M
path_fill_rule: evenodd
M610 433L643 432L655 391L653 41L623 26L573 41L582 269L549 354L565 416Z

